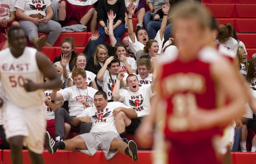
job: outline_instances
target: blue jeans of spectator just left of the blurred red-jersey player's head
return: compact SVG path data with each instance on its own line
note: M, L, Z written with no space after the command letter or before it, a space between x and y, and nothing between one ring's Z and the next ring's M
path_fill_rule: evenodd
M160 21L152 21L147 24L148 39L154 39L157 35L158 30L161 28ZM164 41L168 40L173 30L173 24L167 24L164 31Z

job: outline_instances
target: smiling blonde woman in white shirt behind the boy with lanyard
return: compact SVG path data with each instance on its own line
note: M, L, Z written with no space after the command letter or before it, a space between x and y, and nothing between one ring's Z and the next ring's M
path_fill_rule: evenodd
M81 69L85 70L85 68L86 68L86 55L83 54L83 53L78 53L75 56L75 58L73 59L73 65L74 65L73 70L75 70L76 68L81 68ZM92 88L98 90L98 87L97 87L96 82L95 82L95 77L96 77L96 74L86 70L86 85L87 85L87 87L92 87ZM70 76L70 78L68 80L68 86L71 87L71 86L74 86L74 85L75 84L74 84L73 77Z

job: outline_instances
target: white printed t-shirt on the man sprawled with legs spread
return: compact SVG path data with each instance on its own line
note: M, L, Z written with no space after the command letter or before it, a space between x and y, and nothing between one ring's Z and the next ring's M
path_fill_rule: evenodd
M96 107L88 107L86 110L83 110L78 117L90 117L92 121L92 128L91 133L98 133L98 132L109 132L114 131L117 132L116 124L115 124L115 117L113 115L113 111L117 107L125 107L121 102L108 102L106 107L101 110L97 111ZM117 132L118 133L118 132Z

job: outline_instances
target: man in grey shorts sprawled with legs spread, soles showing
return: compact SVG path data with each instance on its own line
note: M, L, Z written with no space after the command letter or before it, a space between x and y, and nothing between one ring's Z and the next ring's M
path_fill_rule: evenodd
M130 118L137 117L137 113L132 108L121 102L108 103L106 93L98 91L94 95L94 106L83 110L71 122L73 126L77 126L80 122L92 122L91 131L59 143L55 142L47 131L45 143L49 153L53 154L58 149L72 150L78 148L81 152L93 156L97 150L103 150L106 159L110 159L120 151L122 154L129 155L133 161L138 160L136 143L129 141L126 144L118 135L115 117L121 111Z

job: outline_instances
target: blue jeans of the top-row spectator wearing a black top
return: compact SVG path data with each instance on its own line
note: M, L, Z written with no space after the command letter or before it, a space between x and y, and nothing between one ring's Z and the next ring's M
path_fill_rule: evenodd
M106 25L106 22L105 22L105 25ZM98 31L99 31L100 36L97 39L97 42L98 43L103 43L105 41L106 37L107 37L106 34L105 34L105 30L100 25L99 28L98 28ZM114 36L115 36L117 42L120 42L121 37L123 36L124 33L125 33L125 25L124 25L124 23L121 23L114 30Z

